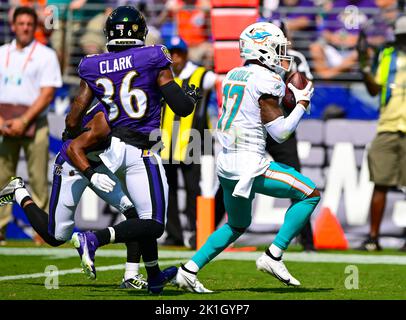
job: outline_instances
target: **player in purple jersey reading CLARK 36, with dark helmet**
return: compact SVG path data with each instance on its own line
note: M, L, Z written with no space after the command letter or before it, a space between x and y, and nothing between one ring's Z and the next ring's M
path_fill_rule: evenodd
M109 52L81 61L80 91L66 117L65 132L71 137L82 133L81 117L94 98L108 108L112 138L100 158L120 177L138 219L94 233L75 233L72 243L85 272L95 278L98 247L138 241L148 274L148 291L161 293L165 283L175 277L177 268L161 271L158 264L156 240L165 228L168 185L161 158L151 150L156 141L150 135L160 127L162 98L175 114L185 117L192 113L199 92L188 86L182 90L176 84L165 46L144 46L148 29L134 7L115 9L107 18L104 31ZM89 166L82 173L91 181L96 172Z

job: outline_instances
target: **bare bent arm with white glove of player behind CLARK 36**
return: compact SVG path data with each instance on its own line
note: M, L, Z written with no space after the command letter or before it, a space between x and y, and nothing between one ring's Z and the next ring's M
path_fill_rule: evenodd
M110 192L115 182L108 175L95 172L86 157L86 151L107 139L110 133L110 127L103 112L96 113L86 127L90 130L73 139L66 153L72 164L89 179L91 184L104 192Z

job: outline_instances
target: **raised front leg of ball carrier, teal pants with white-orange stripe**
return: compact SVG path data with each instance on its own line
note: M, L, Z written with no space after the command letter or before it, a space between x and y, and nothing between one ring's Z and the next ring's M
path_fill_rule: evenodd
M267 171L255 178L252 188L256 193L292 199L284 223L269 249L257 260L257 267L287 285L300 285L286 269L282 255L292 239L309 221L310 215L320 201L320 193L309 178L294 168L277 162L271 162Z

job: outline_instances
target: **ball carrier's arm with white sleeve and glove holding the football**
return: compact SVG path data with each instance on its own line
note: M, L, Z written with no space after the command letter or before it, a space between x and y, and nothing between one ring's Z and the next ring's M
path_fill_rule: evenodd
M258 100L261 108L262 123L271 137L278 143L287 140L292 132L296 130L300 119L309 106L310 98L313 93L311 82L309 82L303 90L295 88L292 84L289 84L289 88L293 91L298 103L286 118L283 116L282 110L279 107L278 97L265 94Z

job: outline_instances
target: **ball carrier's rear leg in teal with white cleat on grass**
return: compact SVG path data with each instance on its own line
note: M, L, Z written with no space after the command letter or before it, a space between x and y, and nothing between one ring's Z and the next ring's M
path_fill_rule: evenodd
M231 243L236 241L251 224L251 209L254 193L249 199L233 197L232 193L238 181L221 178L220 183L224 193L224 206L228 221L214 231L196 254L182 265L176 276L176 284L188 291L210 293L197 279L197 272L220 254Z

